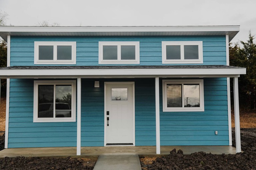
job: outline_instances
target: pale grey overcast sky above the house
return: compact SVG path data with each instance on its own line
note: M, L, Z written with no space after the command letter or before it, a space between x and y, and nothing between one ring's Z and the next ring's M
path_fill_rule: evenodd
M240 25L232 40L256 34L256 0L0 0L6 25L212 26Z

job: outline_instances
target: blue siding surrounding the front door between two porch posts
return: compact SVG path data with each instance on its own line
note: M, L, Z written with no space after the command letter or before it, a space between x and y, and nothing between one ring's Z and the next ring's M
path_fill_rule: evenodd
M104 146L104 81L135 82L135 145L156 145L155 80L145 78L82 79L81 146Z

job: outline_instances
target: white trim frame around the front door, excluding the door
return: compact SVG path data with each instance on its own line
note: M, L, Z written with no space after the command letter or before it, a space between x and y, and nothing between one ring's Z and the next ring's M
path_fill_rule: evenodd
M118 146L135 146L135 83L133 82L104 82L104 146L117 146L117 145L106 145L107 144L107 135L106 135L106 126L107 126L107 84L132 84L132 95L133 95L133 145L118 145Z

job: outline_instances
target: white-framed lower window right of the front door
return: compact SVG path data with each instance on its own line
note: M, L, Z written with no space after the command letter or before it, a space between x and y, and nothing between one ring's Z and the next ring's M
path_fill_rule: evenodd
M163 80L163 112L203 111L203 80Z

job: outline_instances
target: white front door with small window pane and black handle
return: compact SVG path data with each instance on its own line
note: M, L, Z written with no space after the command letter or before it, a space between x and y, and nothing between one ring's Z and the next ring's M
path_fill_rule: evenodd
M134 82L105 83L105 145L134 145Z

